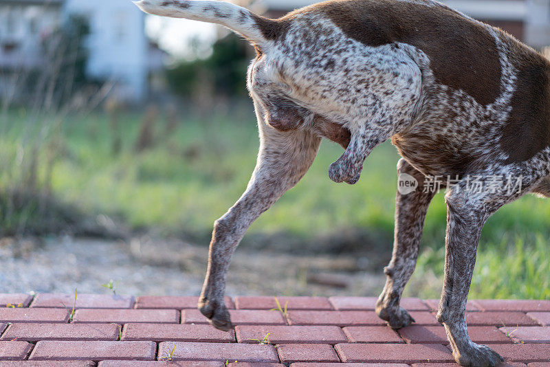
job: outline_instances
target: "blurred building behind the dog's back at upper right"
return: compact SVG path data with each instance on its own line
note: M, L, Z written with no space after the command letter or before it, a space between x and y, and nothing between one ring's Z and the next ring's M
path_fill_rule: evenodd
M315 0L261 0L265 13L278 18ZM550 0L441 0L480 21L513 34L540 49L550 45Z

